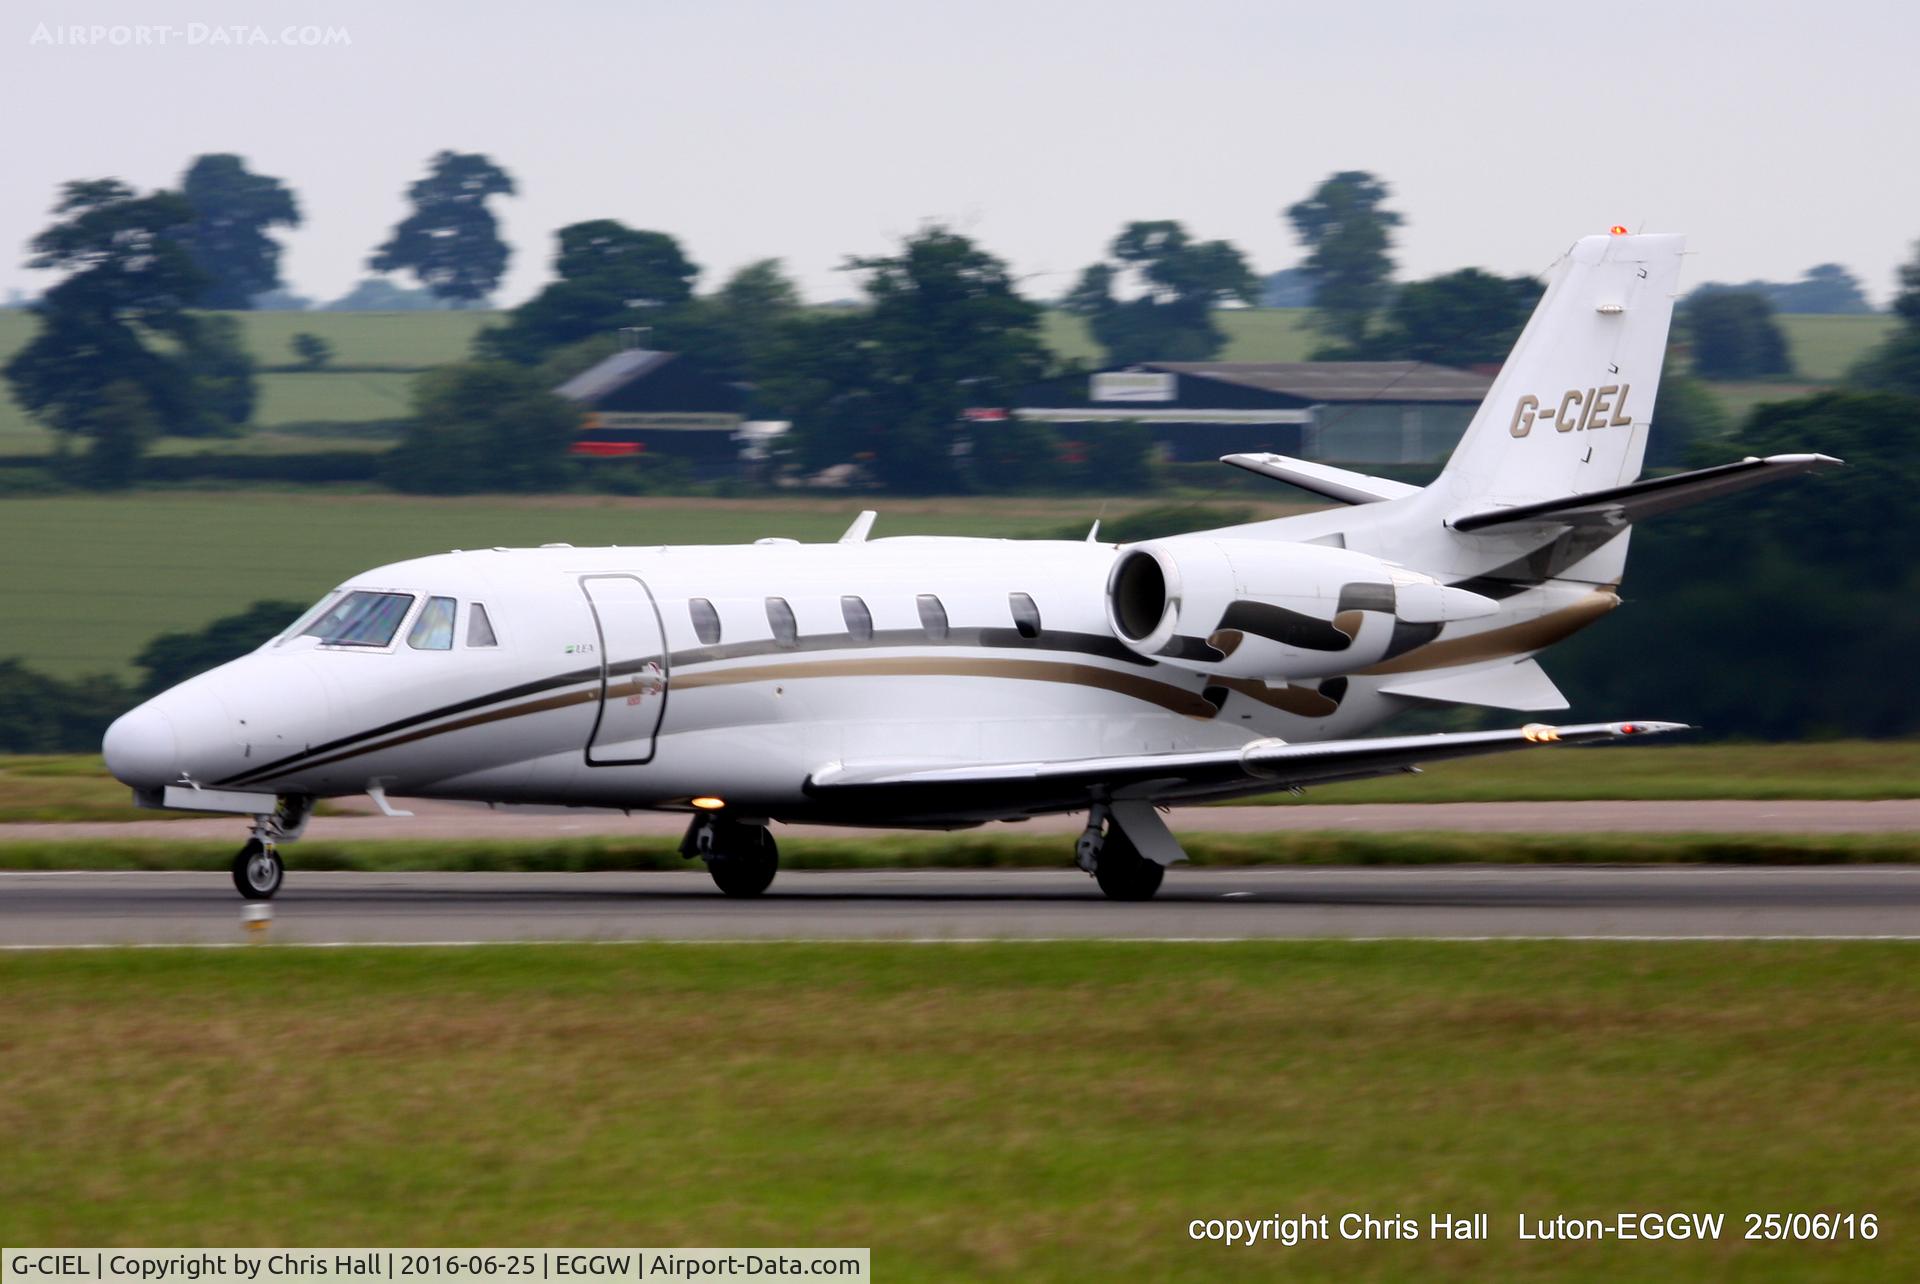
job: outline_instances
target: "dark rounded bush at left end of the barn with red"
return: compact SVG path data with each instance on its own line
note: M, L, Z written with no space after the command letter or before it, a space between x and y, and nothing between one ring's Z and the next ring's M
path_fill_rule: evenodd
M386 480L403 491L459 495L540 491L566 484L580 407L511 361L468 361L415 380L407 436L388 451Z

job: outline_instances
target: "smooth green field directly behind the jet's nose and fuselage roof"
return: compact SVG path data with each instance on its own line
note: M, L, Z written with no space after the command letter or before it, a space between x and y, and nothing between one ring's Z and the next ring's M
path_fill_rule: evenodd
M858 495L415 499L340 491L0 499L0 547L33 551L10 559L0 574L0 658L21 656L63 676L127 672L156 633L200 628L261 599L319 599L361 570L447 549L835 539L862 507L879 509L877 535L1031 535L1144 505ZM1296 511L1271 501L1254 509Z

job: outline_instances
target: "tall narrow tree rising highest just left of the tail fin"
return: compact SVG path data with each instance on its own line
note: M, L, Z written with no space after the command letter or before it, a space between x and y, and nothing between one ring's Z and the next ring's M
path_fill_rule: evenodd
M1388 251L1400 215L1382 209L1386 198L1384 182L1350 169L1286 207L1294 234L1308 248L1302 269L1313 280L1315 322L1332 340L1331 353L1357 347L1390 294Z

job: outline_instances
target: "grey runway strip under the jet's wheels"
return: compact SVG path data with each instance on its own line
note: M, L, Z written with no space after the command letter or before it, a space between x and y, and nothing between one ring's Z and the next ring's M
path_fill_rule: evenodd
M1114 904L1071 869L785 871L726 900L705 871L313 873L261 933L225 873L0 873L0 948L484 940L1905 937L1920 868L1183 869Z

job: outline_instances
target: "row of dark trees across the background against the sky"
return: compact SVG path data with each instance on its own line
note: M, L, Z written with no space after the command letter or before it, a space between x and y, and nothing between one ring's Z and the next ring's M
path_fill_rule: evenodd
M409 213L369 267L407 273L451 305L484 303L511 257L492 203L516 190L490 157L440 152L407 188ZM125 486L156 436L240 434L257 399L255 369L219 313L284 296L275 232L301 225L294 192L217 154L196 157L179 190L69 182L54 215L29 265L61 280L33 305L40 328L6 376L15 399L56 430L71 476ZM1542 290L1480 269L1396 282L1404 215L1390 209L1388 184L1365 171L1329 177L1281 219L1306 251L1290 271L1313 301L1315 359L1492 365ZM419 382L386 478L424 491L564 486L578 413L553 386L612 351L622 330L643 330L647 344L749 388L755 416L793 422L801 468L858 461L879 484L920 491L1150 482L1148 443L1127 430L1087 443L1100 470L1069 463L1056 434L1027 424L977 434L972 455L956 453L952 426L970 405L1004 405L1037 378L1079 369L1050 357L1044 305L1021 296L1002 259L933 225L843 267L862 292L856 307L806 307L778 259L701 294L699 265L668 232L614 219L564 226L553 280L490 326L470 361ZM1839 305L1849 280L1822 265L1803 284ZM1221 309L1256 303L1263 290L1238 248L1162 219L1121 226L1056 305L1087 322L1108 365L1208 361L1225 347ZM1780 374L1788 349L1772 307L1764 292L1705 286L1682 309L1676 336L1701 374ZM330 357L317 336L300 336L296 355L303 369ZM1884 376L1891 370L1874 374ZM1670 378L1663 401L1667 457L1657 463L1724 432L1701 390ZM449 451L453 441L461 449Z

